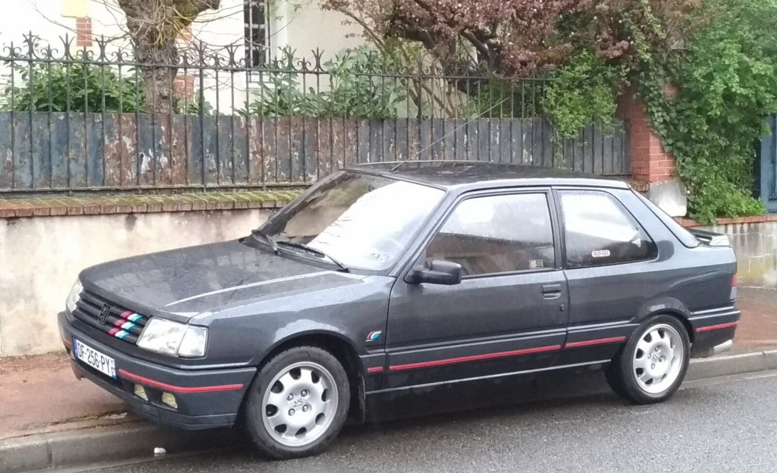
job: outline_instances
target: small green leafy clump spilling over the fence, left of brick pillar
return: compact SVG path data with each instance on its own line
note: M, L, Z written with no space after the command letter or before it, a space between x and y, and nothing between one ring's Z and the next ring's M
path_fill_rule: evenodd
M556 137L576 137L588 123L598 123L605 132L612 132L618 86L626 71L624 66L605 64L591 51L580 50L570 56L553 75L542 103Z

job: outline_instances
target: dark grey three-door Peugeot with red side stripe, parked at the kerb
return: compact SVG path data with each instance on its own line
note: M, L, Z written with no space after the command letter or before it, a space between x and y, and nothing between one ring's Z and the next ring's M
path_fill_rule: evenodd
M248 231L246 231L248 233ZM83 270L59 315L75 374L186 429L242 420L272 457L382 399L604 368L660 402L740 312L724 235L625 183L483 162L336 172L235 241Z

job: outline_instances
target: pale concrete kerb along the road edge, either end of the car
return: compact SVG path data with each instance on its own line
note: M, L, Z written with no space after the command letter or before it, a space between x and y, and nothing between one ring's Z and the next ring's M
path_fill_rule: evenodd
M747 350L692 360L685 381L768 370L777 370L777 349ZM576 395L602 392L601 384L595 382L580 388ZM565 389L568 394L568 386ZM546 396L540 396L543 397ZM0 473L150 457L155 447L165 448L168 454L179 454L243 441L235 429L186 432L151 423L35 434L0 440Z

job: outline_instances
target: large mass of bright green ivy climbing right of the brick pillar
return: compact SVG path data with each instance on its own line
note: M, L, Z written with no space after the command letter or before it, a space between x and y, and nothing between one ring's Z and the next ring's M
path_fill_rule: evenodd
M707 0L681 57L656 57L639 83L653 130L677 159L690 217L761 214L751 197L754 143L777 110L777 2ZM678 87L667 97L664 85Z

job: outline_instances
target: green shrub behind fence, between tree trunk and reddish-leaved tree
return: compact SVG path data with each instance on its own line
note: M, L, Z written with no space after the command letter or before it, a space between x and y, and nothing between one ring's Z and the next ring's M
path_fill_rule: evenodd
M280 71L264 74L269 84L263 83L260 97L242 113L260 117L391 118L406 103L405 85L398 78L385 76L396 74L392 58L369 47L345 50L326 61L323 68L327 72L324 77L329 77L329 89L323 84L323 91L301 87L304 74L292 72L293 52L285 50L284 56Z

